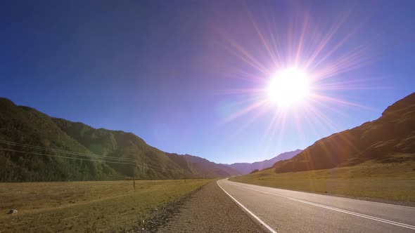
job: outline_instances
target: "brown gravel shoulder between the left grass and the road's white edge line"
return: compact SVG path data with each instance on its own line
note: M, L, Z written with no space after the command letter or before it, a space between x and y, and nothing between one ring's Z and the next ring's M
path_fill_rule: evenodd
M216 182L194 193L171 217L158 232L264 232Z

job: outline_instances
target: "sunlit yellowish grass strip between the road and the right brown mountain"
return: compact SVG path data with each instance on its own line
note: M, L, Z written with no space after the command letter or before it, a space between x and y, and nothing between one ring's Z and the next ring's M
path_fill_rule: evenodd
M275 173L274 168L229 180L305 192L415 202L415 161L367 161L317 171Z

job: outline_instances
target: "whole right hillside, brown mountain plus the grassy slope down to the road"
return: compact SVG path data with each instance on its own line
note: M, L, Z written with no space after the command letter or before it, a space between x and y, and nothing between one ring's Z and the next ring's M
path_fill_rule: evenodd
M322 138L272 168L231 180L413 206L415 93L385 109L379 119Z

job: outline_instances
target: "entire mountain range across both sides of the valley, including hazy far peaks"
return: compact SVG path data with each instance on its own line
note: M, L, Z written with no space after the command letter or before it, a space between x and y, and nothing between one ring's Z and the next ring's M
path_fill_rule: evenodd
M136 166L124 159L134 159ZM283 173L371 159L415 161L415 93L389 106L379 119L322 138L303 151L252 164L216 164L162 152L133 133L54 118L0 98L0 182L117 180L131 178L133 171L140 179L214 178L271 166Z

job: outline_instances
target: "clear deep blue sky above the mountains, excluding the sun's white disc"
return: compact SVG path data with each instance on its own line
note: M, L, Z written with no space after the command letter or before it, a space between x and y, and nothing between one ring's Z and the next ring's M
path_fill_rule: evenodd
M415 1L4 1L0 96L166 152L260 161L414 92L414 12ZM313 95L260 104L293 66Z

